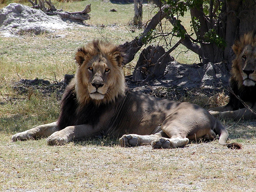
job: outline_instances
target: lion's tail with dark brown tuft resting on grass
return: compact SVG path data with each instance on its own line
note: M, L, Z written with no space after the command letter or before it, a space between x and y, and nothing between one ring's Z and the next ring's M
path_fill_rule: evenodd
M227 143L227 140L228 140L228 131L227 131L227 129L217 119L216 119L216 123L217 123L216 124L216 132L220 136L219 144L223 145L223 146L227 146L228 148L231 148L231 149L241 149L242 144L240 144L240 143L237 143L237 142Z

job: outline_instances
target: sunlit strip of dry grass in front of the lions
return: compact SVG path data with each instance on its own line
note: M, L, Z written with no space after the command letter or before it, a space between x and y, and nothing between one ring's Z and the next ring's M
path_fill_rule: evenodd
M44 139L9 143L4 135L2 191L248 192L256 187L255 140L241 150L217 141L152 150L121 148L108 139L52 147Z

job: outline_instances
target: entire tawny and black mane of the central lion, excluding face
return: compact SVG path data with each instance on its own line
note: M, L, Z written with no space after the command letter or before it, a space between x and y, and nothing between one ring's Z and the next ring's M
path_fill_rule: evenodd
M85 73L85 70L88 70L86 63L96 55L107 58L113 68L111 84L102 100L93 100L87 90L90 80ZM72 125L94 125L100 115L118 97L124 95L126 89L122 68L124 53L120 46L94 40L77 50L76 61L78 68L75 78L67 86L60 103L60 116L57 121L60 130Z

